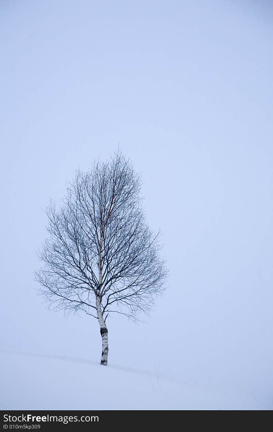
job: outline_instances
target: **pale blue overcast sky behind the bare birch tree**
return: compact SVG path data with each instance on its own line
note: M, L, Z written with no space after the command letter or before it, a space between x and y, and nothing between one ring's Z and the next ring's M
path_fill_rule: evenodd
M0 2L3 349L100 359L33 271L49 197L119 143L170 276L147 324L109 319L110 364L272 396L270 3Z

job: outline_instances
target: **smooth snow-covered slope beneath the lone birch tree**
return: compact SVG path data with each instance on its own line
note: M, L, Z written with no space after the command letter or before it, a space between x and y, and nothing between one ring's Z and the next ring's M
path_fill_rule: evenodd
M67 356L0 353L2 410L270 410L254 391L228 391Z

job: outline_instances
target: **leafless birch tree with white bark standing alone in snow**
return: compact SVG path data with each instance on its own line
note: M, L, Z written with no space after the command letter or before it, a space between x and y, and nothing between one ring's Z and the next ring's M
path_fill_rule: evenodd
M101 364L107 365L106 318L137 319L164 289L160 232L145 222L141 179L120 151L87 172L76 172L60 206L47 208L49 236L35 272L40 293L57 309L85 311L98 320Z

